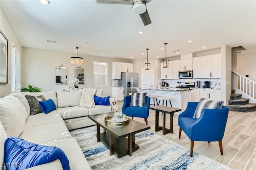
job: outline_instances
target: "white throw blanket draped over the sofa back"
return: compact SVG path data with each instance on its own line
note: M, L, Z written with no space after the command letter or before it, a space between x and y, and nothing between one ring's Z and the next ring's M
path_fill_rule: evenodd
M82 90L80 105L78 107L94 108L95 103L93 96L96 93L96 90L96 88L84 88Z

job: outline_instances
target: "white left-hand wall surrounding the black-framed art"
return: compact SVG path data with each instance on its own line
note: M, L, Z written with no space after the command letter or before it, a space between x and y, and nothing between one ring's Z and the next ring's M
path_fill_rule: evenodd
M6 19L6 16L2 12L2 8L0 8L0 30L8 39L8 82L11 80L12 68L11 68L11 58L12 58L12 43L14 43L16 49L20 51L20 60L22 59L22 46L20 41L16 37L9 21ZM0 98L10 94L11 85L10 84L0 84Z

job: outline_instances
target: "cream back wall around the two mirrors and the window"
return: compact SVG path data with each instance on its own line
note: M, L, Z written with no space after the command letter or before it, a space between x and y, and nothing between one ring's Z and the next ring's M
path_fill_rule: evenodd
M79 52L79 51L78 51ZM39 86L44 91L68 89L73 86L70 80L74 78L74 69L78 65L70 64L70 57L76 55L74 53L66 53L60 51L51 51L44 49L35 49L22 47L22 87ZM115 59L108 57L88 56L78 54L78 57L84 58L84 64L81 67L85 70L85 84L79 84L81 88L97 88L104 89L104 96L112 96L112 62L127 62L131 60ZM93 86L93 61L102 61L108 63L108 86ZM68 84L55 84L55 68L57 66L66 66L68 68Z

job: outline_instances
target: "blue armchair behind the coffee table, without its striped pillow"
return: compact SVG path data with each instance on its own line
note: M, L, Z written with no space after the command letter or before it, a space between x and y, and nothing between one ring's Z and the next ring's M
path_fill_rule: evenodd
M140 106L130 106L132 96L125 96L124 97L124 105L122 107L122 112L127 116L133 117L142 117L146 121L146 125L148 125L148 114L149 114L149 104L150 104L150 97L146 97L146 107Z

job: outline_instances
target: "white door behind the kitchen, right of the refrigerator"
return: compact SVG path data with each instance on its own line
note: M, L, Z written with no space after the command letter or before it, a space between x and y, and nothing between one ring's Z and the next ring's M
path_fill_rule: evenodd
M141 68L141 88L154 88L154 68L145 70Z

